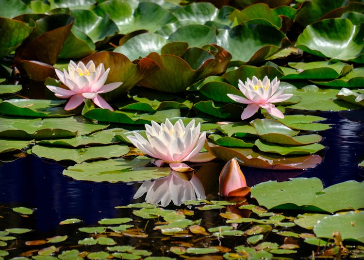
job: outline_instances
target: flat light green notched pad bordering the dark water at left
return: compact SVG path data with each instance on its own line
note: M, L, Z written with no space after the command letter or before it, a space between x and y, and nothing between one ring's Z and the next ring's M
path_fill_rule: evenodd
M40 158L48 158L55 161L70 160L73 162L84 162L95 159L109 159L120 157L129 152L126 145L92 146L78 149L58 148L48 146L33 146L32 153Z

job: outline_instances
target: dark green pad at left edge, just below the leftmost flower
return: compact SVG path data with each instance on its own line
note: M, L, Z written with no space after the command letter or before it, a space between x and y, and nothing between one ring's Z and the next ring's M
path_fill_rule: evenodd
M0 103L0 112L7 115L33 117L66 117L74 115L74 111L66 111L61 105L66 100L46 99L9 99Z

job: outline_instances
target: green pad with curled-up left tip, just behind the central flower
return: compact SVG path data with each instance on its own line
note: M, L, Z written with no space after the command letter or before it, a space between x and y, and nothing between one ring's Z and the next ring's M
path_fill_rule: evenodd
M180 116L179 109L161 110L154 113L138 114L133 112L114 111L95 108L91 102L87 102L82 114L89 119L100 122L114 122L123 124L148 124L151 120L158 123L165 122L165 118Z

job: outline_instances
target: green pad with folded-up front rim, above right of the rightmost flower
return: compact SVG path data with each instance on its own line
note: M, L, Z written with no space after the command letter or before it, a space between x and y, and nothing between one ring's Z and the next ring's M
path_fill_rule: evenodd
M336 79L346 75L353 67L342 62L298 62L288 63L290 67L280 67L284 73L281 80L301 80L301 79Z

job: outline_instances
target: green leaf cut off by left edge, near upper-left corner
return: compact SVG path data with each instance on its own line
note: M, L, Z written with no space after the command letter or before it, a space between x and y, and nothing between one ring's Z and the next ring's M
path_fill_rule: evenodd
M8 2L12 2L11 0ZM21 2L19 0L19 2ZM5 6L0 4L1 6ZM5 8L1 8L5 10ZM7 9L7 8L6 8ZM0 15L1 16L1 15ZM33 28L22 21L0 17L0 58L10 54L29 36Z

